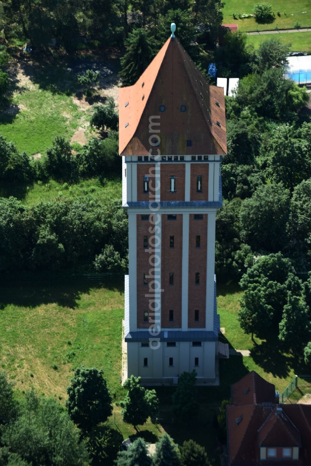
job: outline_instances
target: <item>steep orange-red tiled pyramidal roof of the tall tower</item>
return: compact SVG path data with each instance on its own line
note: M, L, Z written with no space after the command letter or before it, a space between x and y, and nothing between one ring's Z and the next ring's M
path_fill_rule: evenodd
M176 38L166 41L133 86L119 89L120 155L148 155L154 133L149 118L155 116L161 155L227 152L223 89L208 84Z

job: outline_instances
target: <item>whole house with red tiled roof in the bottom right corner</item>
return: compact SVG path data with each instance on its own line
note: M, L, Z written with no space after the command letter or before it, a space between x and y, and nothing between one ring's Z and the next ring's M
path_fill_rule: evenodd
M254 370L231 386L228 466L311 466L311 405L278 404Z

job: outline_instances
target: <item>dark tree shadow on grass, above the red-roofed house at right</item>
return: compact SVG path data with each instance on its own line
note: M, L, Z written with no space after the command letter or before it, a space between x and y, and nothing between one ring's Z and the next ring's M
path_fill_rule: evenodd
M265 372L270 372L274 377L286 378L290 374L293 357L283 354L280 342L275 339L269 342L263 341L260 345L254 346L250 350L250 356L258 366L262 367Z

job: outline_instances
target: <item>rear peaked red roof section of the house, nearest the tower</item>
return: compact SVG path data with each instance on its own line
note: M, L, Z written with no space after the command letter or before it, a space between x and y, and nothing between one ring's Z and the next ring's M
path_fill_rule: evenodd
M275 403L275 386L252 370L231 385L231 403L234 405Z

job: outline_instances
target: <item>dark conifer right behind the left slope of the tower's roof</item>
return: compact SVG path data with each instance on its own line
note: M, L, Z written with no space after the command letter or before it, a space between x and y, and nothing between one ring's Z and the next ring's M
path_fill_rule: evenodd
M152 40L142 28L134 29L125 43L126 53L121 58L120 73L124 86L131 86L145 71L154 57Z

